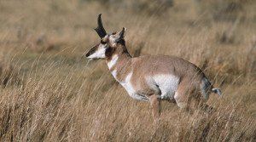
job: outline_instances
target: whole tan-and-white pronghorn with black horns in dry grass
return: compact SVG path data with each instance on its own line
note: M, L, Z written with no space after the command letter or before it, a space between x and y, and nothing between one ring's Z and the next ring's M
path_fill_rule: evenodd
M132 58L125 47L126 28L107 34L99 14L95 28L101 43L86 54L88 60L105 59L109 71L133 99L149 101L154 120L160 119L160 100L177 103L189 109L193 103L206 102L212 92L221 96L220 88L211 82L196 65L167 55L143 55Z

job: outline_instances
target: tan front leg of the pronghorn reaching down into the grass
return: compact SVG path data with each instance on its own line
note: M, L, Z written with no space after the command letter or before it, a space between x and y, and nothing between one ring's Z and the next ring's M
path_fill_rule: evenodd
M153 107L154 122L160 121L160 99L157 94L149 96L150 105Z

